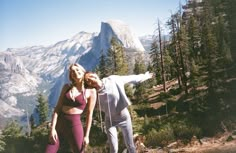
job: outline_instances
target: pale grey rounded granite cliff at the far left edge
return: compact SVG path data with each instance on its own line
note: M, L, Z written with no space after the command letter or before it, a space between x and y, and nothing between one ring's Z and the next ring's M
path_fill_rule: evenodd
M25 68L21 59L9 52L0 53L0 116L12 117L23 115L17 107L16 94L36 94L39 83Z

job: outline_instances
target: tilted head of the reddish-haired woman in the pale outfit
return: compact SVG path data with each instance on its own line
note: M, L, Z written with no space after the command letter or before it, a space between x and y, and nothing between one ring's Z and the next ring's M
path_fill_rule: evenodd
M86 73L84 76L84 81L88 88L97 88L99 80L97 74L94 73Z

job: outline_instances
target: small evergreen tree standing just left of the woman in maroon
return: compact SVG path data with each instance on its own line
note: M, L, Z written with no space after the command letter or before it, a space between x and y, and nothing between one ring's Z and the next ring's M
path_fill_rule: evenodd
M36 106L36 110L39 115L39 124L42 124L45 121L47 121L48 102L41 93L38 95L37 102L38 102L38 105Z

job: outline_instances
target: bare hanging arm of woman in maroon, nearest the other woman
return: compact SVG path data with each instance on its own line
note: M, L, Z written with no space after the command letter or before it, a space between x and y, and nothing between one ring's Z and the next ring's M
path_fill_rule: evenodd
M89 144L89 133L92 125L92 118L93 118L93 110L97 100L97 92L95 89L87 89L89 90L89 97L87 98L87 116L86 116L86 130L84 135L84 145Z

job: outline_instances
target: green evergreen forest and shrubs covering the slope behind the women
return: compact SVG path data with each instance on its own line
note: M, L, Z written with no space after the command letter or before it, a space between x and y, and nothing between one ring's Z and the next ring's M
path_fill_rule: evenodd
M201 143L204 137L225 132L232 132L227 141L236 139L235 7L235 0L189 0L180 5L178 11L170 13L167 23L156 21L147 51L150 60L145 62L144 56L138 54L132 70L124 47L115 38L106 54L101 51L95 70L101 78L111 74L155 73L154 79L126 86L132 102L129 111L134 134L138 135L136 142L143 144L137 144L137 152L165 148L173 142L184 146L193 138ZM169 29L168 38L163 29ZM39 121L29 117L26 128L17 121L9 122L1 131L0 153L44 151L51 110L43 94L38 95L37 102ZM103 126L95 109L87 152L107 152ZM125 145L119 140L122 151ZM69 153L68 149L66 142L62 143L59 153Z

